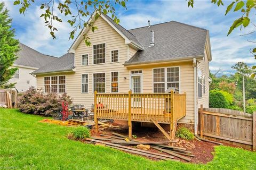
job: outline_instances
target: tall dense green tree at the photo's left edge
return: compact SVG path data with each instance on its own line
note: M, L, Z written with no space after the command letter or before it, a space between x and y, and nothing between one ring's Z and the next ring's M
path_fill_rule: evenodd
M19 41L14 39L14 29L11 29L12 19L4 3L0 3L0 88L13 87L15 83L8 83L17 71L17 68L10 68L17 59L16 53L19 50Z

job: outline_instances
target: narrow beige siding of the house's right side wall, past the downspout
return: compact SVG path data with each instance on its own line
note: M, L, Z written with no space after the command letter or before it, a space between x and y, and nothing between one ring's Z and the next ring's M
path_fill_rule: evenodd
M197 107L202 104L203 107L209 107L209 60L206 51L204 52L204 60L201 60L197 64L197 68L202 71L202 75L205 78L205 94L202 87L202 98L197 99ZM198 82L197 82L198 88ZM198 91L198 90L197 90ZM198 93L197 93L198 97Z

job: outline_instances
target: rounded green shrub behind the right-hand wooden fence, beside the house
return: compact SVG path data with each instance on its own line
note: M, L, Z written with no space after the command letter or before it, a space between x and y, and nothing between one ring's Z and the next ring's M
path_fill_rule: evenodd
M211 90L209 96L209 107L228 108L229 103L220 90Z

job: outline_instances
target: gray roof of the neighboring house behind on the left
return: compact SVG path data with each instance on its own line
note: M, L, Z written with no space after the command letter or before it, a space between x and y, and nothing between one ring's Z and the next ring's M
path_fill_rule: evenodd
M19 46L18 58L14 61L14 64L39 68L57 60L57 57L44 55L22 43Z

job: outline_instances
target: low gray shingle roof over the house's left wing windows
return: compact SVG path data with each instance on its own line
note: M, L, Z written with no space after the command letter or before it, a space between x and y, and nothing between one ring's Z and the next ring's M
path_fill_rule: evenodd
M71 71L72 69L74 69L74 56L74 53L64 54L57 60L44 65L43 67L37 69L31 74Z

